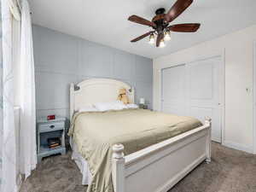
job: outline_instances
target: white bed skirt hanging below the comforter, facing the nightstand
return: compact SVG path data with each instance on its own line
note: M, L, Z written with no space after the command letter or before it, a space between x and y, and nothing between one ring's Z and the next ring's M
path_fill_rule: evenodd
M82 185L89 185L91 182L91 173L90 173L88 163L86 160L84 160L84 157L81 154L79 154L76 143L73 142L72 137L70 137L69 142L70 142L71 148L73 149L71 158L72 158L72 160L75 161L75 163L79 167L80 172L83 175Z

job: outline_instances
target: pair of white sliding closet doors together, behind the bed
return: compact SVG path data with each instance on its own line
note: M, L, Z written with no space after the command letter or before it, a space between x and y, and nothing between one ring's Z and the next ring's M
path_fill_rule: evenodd
M212 118L212 140L221 142L221 57L195 61L162 71L162 110L204 122Z

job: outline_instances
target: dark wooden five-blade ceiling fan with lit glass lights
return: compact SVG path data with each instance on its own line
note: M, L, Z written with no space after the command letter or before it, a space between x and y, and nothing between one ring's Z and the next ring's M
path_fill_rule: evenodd
M156 47L164 47L165 41L171 39L171 32L196 32L200 27L200 23L184 23L169 26L169 23L172 22L172 20L175 20L178 15L181 15L191 3L193 3L193 0L177 0L166 14L166 9L157 9L155 11L156 15L153 17L152 21L145 20L137 15L131 15L128 20L144 26L150 26L154 29L153 31L132 39L131 42L137 42L149 36L148 43L154 44L154 36L156 35Z

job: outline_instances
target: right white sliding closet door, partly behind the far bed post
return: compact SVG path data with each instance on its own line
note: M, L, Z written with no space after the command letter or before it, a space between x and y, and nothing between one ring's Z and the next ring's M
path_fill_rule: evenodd
M204 122L212 118L212 140L221 142L220 75L221 57L187 65L187 109L190 116Z

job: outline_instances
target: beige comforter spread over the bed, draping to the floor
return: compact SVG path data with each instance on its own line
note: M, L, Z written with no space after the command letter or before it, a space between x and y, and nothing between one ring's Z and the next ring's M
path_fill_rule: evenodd
M112 146L122 143L125 155L200 126L190 117L143 109L76 113L69 135L88 161L92 182L87 192L113 192Z

